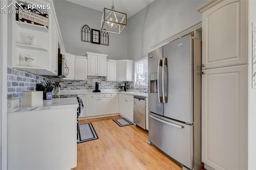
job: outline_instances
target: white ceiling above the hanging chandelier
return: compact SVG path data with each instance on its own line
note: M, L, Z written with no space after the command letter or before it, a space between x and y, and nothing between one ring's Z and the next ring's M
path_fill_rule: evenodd
M112 0L66 0L78 5L86 6L94 10L103 11L103 8L111 9ZM130 18L154 0L114 0L115 10L127 14Z

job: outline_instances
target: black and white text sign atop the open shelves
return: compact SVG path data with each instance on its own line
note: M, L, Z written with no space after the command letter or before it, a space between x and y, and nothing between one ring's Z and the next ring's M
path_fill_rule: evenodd
M44 10L28 9L25 5L17 7L19 11L18 14L16 14L17 21L45 26L48 28L48 10L45 10L44 12Z

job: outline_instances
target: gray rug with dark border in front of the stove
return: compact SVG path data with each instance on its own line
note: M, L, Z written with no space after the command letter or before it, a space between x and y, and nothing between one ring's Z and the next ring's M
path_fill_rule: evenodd
M92 126L92 123L84 123L79 125L78 130L78 143L81 142L87 142L90 140L98 139L98 135L95 132L94 127Z

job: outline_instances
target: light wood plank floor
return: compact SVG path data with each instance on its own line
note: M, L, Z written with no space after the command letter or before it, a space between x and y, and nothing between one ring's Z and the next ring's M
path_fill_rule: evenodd
M112 121L118 118L121 117L79 121L79 124L91 122L99 139L77 144L77 166L73 170L182 169L156 147L147 144L148 132L135 125L119 127Z

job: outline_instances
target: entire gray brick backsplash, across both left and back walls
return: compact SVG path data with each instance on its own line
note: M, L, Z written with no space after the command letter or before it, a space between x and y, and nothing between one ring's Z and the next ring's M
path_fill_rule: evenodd
M22 97L22 91L36 90L37 83L43 83L46 77L35 75L27 71L8 67L7 70L7 99L16 99ZM87 81L91 80L92 85L88 85ZM61 80L60 90L93 90L95 82L105 81L105 85L99 85L99 89L120 90L120 83L124 81L106 81L106 77L87 76L87 80ZM129 91L138 91L139 88L134 88L134 81L126 81L126 89ZM147 88L142 88L147 91Z

